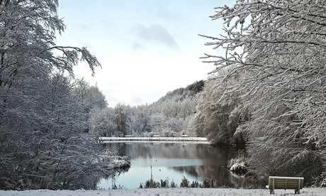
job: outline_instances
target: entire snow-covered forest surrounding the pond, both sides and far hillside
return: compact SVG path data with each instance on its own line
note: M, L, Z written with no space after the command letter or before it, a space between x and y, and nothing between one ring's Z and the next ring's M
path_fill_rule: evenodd
M112 173L117 158L96 138L125 135L208 137L245 149L247 175L326 186L325 1L215 8L212 25L225 34L199 36L225 55L203 56L216 66L208 79L134 107L109 107L99 87L74 77L81 61L91 74L101 64L86 48L55 45L57 6L0 1L0 189L94 187L81 182Z

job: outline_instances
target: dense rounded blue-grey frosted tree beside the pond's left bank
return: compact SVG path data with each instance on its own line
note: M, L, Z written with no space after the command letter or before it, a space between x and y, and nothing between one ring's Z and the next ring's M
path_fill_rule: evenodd
M28 80L17 75L21 82L13 82L1 115L1 188L94 187L81 182L101 175L103 165L93 136L83 131L87 114L72 94L76 82L37 75Z

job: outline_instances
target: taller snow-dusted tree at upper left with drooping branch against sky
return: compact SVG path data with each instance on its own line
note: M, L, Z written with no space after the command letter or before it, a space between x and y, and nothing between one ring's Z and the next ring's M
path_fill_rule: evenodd
M0 87L10 87L19 71L35 64L71 73L79 60L88 62L93 73L101 66L86 48L55 45L55 32L65 28L57 6L57 0L0 2ZM62 55L56 57L54 50Z

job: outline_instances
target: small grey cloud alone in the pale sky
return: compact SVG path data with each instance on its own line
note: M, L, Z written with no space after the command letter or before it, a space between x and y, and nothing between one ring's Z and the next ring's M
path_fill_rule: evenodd
M164 28L159 24L153 24L148 28L140 24L133 28L133 32L139 40L142 40L145 43L159 43L168 46L169 48L179 48L176 40L174 40L173 36L169 31L167 31L167 28ZM137 47L135 47L135 45L137 45ZM139 42L135 42L133 48L140 48L140 46Z

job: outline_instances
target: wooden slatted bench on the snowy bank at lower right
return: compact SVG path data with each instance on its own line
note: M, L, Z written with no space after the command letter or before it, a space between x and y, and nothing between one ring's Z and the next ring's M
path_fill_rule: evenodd
M275 193L275 189L294 189L294 194L300 194L303 188L303 179L300 177L269 176L269 193Z

